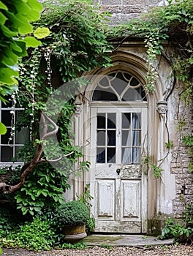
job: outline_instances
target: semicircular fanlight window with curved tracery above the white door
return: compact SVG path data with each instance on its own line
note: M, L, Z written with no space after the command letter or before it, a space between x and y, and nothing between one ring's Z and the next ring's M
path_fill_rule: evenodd
M104 75L94 89L92 100L134 102L147 101L142 83L124 71Z

